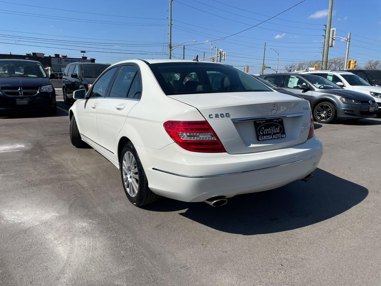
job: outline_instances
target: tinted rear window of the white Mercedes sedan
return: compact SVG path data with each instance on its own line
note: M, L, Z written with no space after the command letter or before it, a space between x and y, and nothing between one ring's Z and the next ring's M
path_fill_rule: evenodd
M245 72L223 64L157 63L149 67L166 95L272 91Z

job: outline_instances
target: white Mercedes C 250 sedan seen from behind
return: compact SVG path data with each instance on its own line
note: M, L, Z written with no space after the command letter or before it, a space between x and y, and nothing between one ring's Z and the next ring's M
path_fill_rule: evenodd
M323 154L308 101L227 64L123 61L74 98L72 144L112 162L136 206L158 196L221 206L309 180Z

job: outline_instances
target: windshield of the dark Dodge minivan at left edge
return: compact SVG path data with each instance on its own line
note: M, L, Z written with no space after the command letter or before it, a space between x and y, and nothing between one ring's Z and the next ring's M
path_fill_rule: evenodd
M0 77L47 77L37 61L0 61Z

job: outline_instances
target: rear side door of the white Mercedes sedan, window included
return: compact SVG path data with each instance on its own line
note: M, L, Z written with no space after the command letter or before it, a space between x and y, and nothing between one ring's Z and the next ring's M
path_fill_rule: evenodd
M97 111L97 126L102 151L117 159L117 136L127 119L127 114L141 97L141 78L138 68L123 65L102 100Z

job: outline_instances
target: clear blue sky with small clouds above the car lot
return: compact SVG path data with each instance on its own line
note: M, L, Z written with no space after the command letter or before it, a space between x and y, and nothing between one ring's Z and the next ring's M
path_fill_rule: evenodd
M210 43L205 42L247 29L300 1L174 0L172 42L176 45L196 40L187 43L191 45L186 46L186 59L195 55L202 58L204 51L210 55ZM226 51L226 63L242 67L248 64L253 73L259 73L262 65L264 42L265 63L272 68L276 67L277 54L270 48L279 53L279 69L291 62L321 61L328 3L306 0L258 27L219 40L216 45ZM0 4L0 53L40 52L80 57L80 50L85 50L89 51L86 56L96 58L98 63L168 58L167 0L7 0ZM381 1L334 0L333 10L332 27L337 29L336 35L347 37L348 32L352 33L349 58L360 65L368 59L381 59ZM344 57L345 48L345 42L336 40L329 57ZM173 53L174 57L182 58L182 46Z

